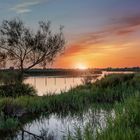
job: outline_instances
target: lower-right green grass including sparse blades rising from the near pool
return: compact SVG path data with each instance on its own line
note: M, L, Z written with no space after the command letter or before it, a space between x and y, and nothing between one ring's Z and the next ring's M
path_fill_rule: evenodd
M140 92L114 106L114 116L108 117L106 128L96 129L89 123L84 128L69 132L68 140L139 140Z

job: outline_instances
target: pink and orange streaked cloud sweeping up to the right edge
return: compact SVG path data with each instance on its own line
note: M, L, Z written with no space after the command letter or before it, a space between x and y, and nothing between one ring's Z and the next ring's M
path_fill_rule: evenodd
M109 21L108 25L100 31L91 31L82 36L80 35L79 40L70 44L66 53L71 56L79 53L85 54L87 50L96 53L99 51L116 51L136 46L133 43L130 44L127 37L138 30L140 30L140 14L116 18L113 22Z

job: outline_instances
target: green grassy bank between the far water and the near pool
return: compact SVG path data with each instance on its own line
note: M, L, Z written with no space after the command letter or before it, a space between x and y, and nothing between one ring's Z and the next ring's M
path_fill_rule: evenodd
M78 86L60 95L0 98L0 131L16 130L25 114L77 112L92 104L123 103L140 91L138 74L109 75L95 84Z

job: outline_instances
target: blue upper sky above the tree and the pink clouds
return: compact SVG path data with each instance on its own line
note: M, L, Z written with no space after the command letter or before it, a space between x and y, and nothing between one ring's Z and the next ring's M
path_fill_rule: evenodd
M51 20L67 32L97 30L114 18L136 14L139 0L1 0L0 21L20 16L27 23Z

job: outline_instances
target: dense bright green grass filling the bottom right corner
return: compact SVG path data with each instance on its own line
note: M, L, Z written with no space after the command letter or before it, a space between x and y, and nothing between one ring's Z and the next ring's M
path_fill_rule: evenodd
M97 137L99 140L139 140L140 139L140 93L117 106L116 117L110 118L108 127Z

